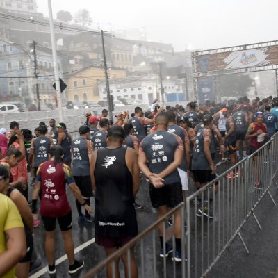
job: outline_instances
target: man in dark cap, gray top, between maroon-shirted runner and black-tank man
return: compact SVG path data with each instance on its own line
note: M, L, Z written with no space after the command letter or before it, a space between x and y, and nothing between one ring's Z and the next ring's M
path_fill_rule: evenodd
M92 154L92 142L90 142L90 127L83 125L79 127L79 138L72 141L72 175L76 185L79 187L85 204L90 206L90 197L92 197L92 184L90 178L90 161L89 156ZM79 224L91 223L94 217L85 210L85 217L82 213L82 206L76 199L76 208L79 214Z

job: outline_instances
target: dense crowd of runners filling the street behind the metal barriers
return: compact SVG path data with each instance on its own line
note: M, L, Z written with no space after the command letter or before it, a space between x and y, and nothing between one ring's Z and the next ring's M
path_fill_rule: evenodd
M106 256L122 247L138 233L136 194L140 179L149 181L149 196L158 218L169 208L185 202L188 179L195 190L216 178L215 162L235 165L256 152L278 131L278 98L268 97L250 103L247 97L226 103L199 107L160 107L155 100L151 111L136 107L134 113L108 119L104 109L99 117L86 113L79 136L72 138L65 123L49 126L40 122L34 130L19 128L10 122L10 130L0 129L0 276L25 278L35 265L34 228L44 224L45 254L48 272L56 274L56 220L63 236L69 273L83 268L74 258L72 208L67 200L66 184L76 198L78 224L95 225L95 241ZM28 184L29 175L31 183ZM227 179L236 179L236 168ZM260 185L259 177L254 187ZM28 199L28 190L32 198ZM217 190L217 185L215 186ZM95 197L95 207L90 199ZM199 205L197 216L213 218L207 205ZM176 250L173 260L181 262L181 220L174 215ZM75 224L75 223L74 223ZM173 252L163 244L163 229L158 228L160 256ZM128 258L122 256L126 267ZM138 277L133 249L131 277ZM93 266L93 265L92 265ZM113 277L112 265L106 270ZM118 265L115 271L119 276Z

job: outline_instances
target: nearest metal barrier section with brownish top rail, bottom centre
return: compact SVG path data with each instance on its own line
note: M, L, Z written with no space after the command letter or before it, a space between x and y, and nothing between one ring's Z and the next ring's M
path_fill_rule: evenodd
M149 226L147 229L142 231L138 236L133 238L129 243L121 247L119 250L108 256L104 261L101 261L90 270L84 278L89 277L106 277L105 270L107 265L112 264L113 277L117 277L115 270L115 263L120 259L122 255L127 255L128 267L127 274L125 277L131 278L131 248L135 248L136 264L138 267L138 277L186 277L186 250L185 250L185 231L184 228L181 229L181 263L176 263L174 260L167 260L167 258L159 258L158 253L161 250L161 243L158 240L158 234L156 230L158 225L163 225L163 245L165 250L165 243L170 242L173 246L173 254L175 252L175 240L174 240L174 215L178 211L181 213L181 219L185 216L185 206L184 203L179 204L175 208L172 208L167 214L162 218L158 219L154 224ZM167 220L172 218L172 226L167 227ZM183 226L182 226L183 227ZM172 256L172 254L170 254ZM169 256L170 256L169 255ZM122 268L121 268L121 271ZM124 277L124 275L121 275Z

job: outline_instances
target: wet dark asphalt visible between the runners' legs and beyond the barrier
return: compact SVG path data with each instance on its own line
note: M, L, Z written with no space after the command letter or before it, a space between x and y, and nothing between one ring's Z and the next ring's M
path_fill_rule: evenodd
M229 164L220 164L218 166L218 174L227 170ZM32 188L29 190L30 194ZM190 192L194 191L193 182L190 181ZM278 190L272 186L270 190L273 193L274 199L278 202ZM76 259L83 259L85 266L81 272L72 277L82 277L88 270L93 268L99 261L105 258L104 249L94 243L95 227L94 224L77 224L77 213L75 201L72 193L68 194L70 205L72 206L73 228L72 235L74 238L74 247L82 247L83 249L76 252ZM92 198L92 207L94 206L94 198ZM137 211L138 230L139 232L147 228L156 219L156 212L153 210L149 201L149 186L147 181L143 179L140 183L140 190L136 202L142 205L142 208ZM222 258L213 267L207 277L278 277L278 252L277 252L277 228L276 221L278 215L277 206L271 202L270 197L265 196L261 205L256 208L256 216L263 227L262 230L256 225L254 219L251 217L245 224L242 236L247 244L250 254L247 255L238 238L231 244L229 250L224 252ZM56 259L65 256L63 250L63 240L59 229L56 229ZM38 228L35 228L35 248L42 259L42 265L32 277L49 277L45 267L47 266L47 259L44 253L44 228L41 222ZM84 243L90 243L84 247ZM153 261L152 261L152 238L148 236L145 240L145 277L154 277L153 275ZM156 236L156 277L163 277L163 260L158 256L160 251L160 243L158 236ZM140 267L140 248L136 247L136 257L139 264L139 277L142 277L142 268ZM167 258L167 277L173 277L172 256ZM56 277L70 277L67 274L68 263L65 258L62 263L56 266ZM177 266L177 277L180 277L180 267ZM105 277L105 270L103 270L97 277ZM121 277L123 272L121 271Z

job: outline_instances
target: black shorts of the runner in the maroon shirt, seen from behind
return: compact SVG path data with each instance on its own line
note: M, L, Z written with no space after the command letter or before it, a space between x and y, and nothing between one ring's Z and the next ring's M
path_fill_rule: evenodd
M72 229L72 211L67 213L65 216L57 217L60 230L68 231ZM56 218L51 218L48 216L42 216L42 221L44 222L45 231L54 231L56 228Z

